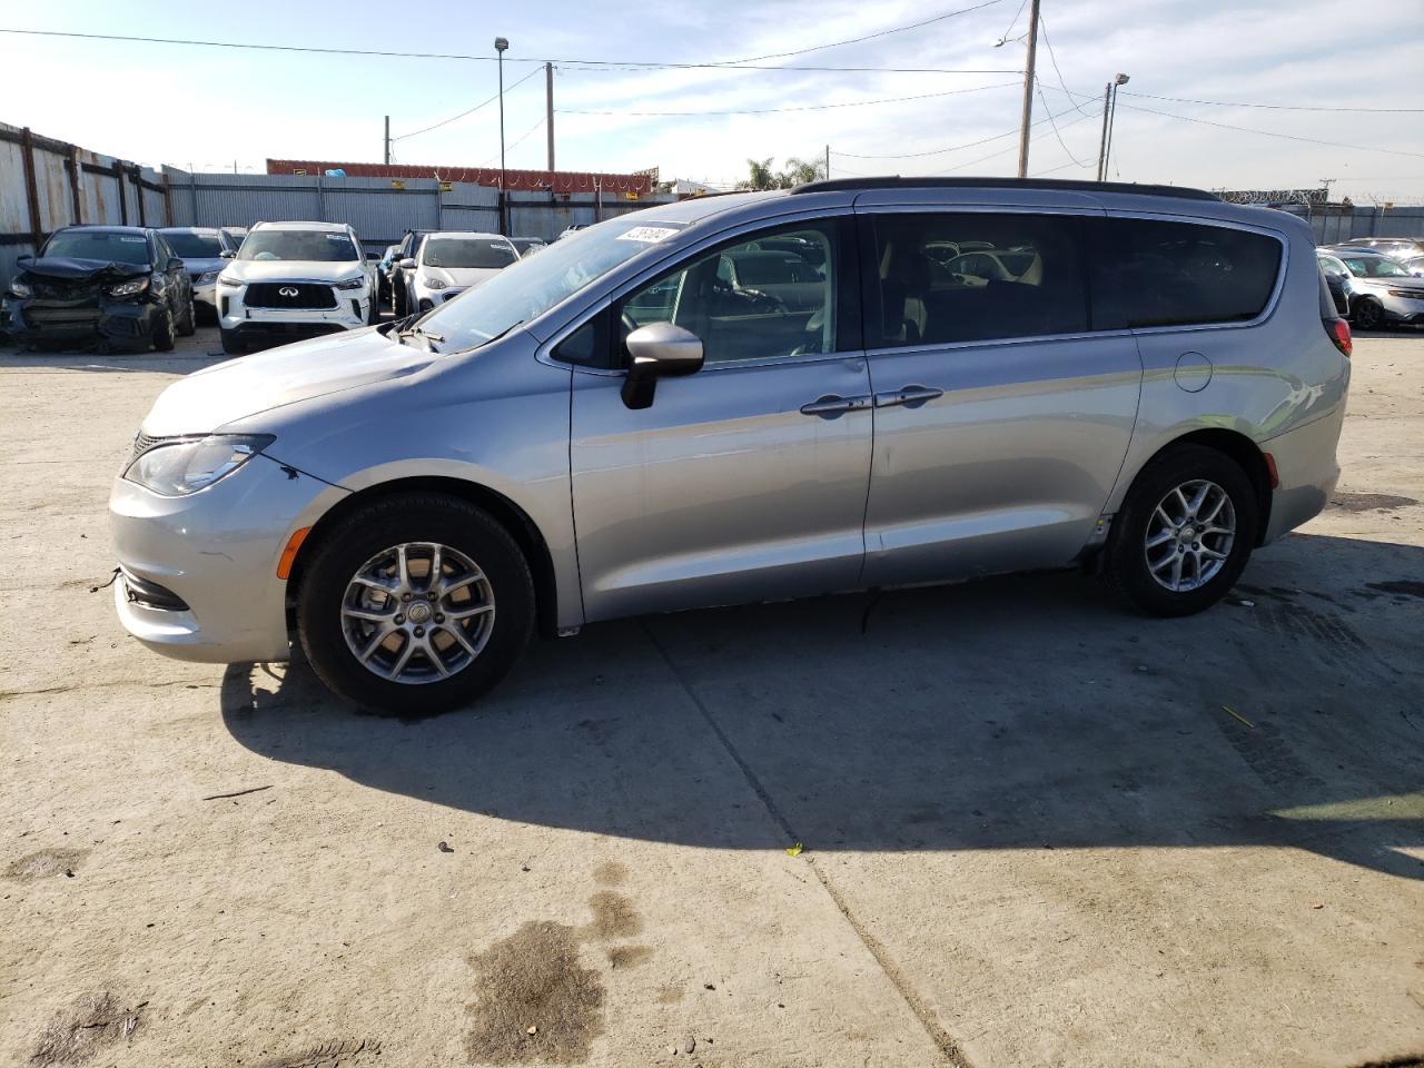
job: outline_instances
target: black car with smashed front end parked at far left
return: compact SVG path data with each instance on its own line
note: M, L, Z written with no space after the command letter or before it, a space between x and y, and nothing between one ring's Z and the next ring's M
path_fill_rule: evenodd
M157 229L66 226L19 268L0 330L21 345L168 352L197 329L192 281Z

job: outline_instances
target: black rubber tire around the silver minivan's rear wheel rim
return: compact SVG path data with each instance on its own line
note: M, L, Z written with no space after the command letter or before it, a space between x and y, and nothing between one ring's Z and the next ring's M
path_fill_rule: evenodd
M1206 582L1193 590L1173 591L1152 577L1148 565L1148 525L1158 504L1175 487L1193 481L1220 487L1235 511L1236 530L1226 560ZM1148 615L1192 615L1216 604L1240 578L1256 544L1260 506L1256 488L1240 464L1225 453L1198 444L1173 446L1153 459L1132 483L1128 497L1112 521L1108 535L1108 584L1138 611ZM1215 537L1215 535L1213 535ZM1205 544L1206 538L1202 537ZM1216 543L1222 545L1220 541ZM1171 545L1163 547L1168 551ZM1190 545L1185 547L1190 551ZM1159 554L1161 558L1161 554Z

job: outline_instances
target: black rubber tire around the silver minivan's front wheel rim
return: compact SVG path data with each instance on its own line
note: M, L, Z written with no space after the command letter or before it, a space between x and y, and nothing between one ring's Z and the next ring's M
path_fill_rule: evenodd
M352 578L367 561L404 543L439 543L464 554L484 574L494 601L481 651L444 679L410 684L380 676L352 652L342 627ZM423 716L468 703L508 674L534 632L528 561L504 527L459 497L409 493L373 501L323 531L309 551L296 597L302 649L318 676L360 708Z

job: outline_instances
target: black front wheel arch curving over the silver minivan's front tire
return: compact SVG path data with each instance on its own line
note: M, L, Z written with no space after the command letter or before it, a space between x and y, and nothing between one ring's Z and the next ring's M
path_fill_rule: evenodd
M296 558L292 561L292 572L288 578L288 604L296 602L302 577L315 553L313 547L320 544L323 534L335 528L337 523L357 508L399 493L443 493L459 497L488 513L508 531L528 561L530 574L534 578L534 617L540 635L550 638L558 632L558 584L554 572L554 557L548 550L548 543L543 531L530 518L528 513L503 493L480 483L449 476L413 476L376 483L375 486L367 486L347 494L328 508L312 524L310 534L302 541Z

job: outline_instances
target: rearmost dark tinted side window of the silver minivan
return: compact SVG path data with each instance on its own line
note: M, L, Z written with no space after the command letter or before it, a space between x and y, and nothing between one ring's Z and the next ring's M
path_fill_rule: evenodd
M1255 319L1280 273L1282 245L1262 234L1156 219L1089 225L1098 330Z

